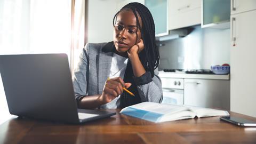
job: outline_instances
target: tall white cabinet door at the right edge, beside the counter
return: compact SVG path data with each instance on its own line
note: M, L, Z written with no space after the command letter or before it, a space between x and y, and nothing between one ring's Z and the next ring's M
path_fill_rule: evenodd
M256 117L256 10L231 15L231 110ZM235 44L235 45L233 45Z

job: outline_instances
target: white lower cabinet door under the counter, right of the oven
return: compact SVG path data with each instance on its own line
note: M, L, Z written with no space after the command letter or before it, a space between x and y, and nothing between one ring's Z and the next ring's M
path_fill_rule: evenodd
M185 78L184 84L185 105L230 109L229 81Z

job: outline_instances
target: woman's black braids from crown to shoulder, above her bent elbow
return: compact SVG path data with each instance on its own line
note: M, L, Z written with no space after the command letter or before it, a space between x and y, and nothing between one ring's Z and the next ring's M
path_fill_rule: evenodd
M132 10L132 12L136 17L137 31L139 28L141 31L141 38L143 39L143 43L144 43L144 49L139 53L139 57L143 67L146 69L146 71L150 71L151 77L153 77L154 69L156 69L159 65L159 51L156 46L155 24L154 24L153 17L145 5L142 5L140 3L129 3L124 7L122 7L122 9L115 14L113 18L114 27L115 27L118 13L123 10ZM137 13L141 18L141 21L143 24L142 27L140 26Z

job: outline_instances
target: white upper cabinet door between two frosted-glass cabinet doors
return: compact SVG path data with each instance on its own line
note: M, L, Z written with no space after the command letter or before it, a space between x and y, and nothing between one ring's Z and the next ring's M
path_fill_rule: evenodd
M169 0L169 30L201 23L201 0Z

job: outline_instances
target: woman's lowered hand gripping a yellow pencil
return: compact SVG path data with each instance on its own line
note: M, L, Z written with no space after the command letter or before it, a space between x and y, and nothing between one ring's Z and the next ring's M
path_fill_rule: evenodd
M108 103L123 93L123 87L128 88L131 85L131 83L124 83L121 77L108 79L99 100L103 104Z

